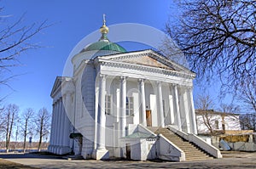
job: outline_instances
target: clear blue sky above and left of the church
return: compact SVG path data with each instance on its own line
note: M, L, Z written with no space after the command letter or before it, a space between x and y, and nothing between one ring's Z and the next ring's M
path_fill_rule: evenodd
M24 75L9 82L14 90L0 87L0 97L8 95L3 104L14 103L20 106L20 110L31 107L36 111L42 107L51 111L49 93L55 76L61 76L66 59L75 45L99 29L102 14L107 14L108 25L138 23L163 31L168 14L175 12L171 1L167 0L3 0L1 6L4 8L2 15L10 14L11 20L18 20L26 14L23 25L39 24L44 20L54 23L32 40L44 48L20 55L21 65L15 67L12 73Z

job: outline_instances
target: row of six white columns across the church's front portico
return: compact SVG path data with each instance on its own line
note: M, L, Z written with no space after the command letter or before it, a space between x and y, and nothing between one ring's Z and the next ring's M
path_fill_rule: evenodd
M119 77L119 136L125 137L126 127L126 81L127 77ZM184 132L193 132L196 134L195 124L195 110L193 104L192 87L183 87L177 84L171 84L172 94L174 96L175 106L175 125ZM163 94L162 94L162 82L156 82L156 104L157 104L157 115L160 118L160 127L165 127L165 116L163 110ZM140 113L142 113L142 119L140 123L147 127L146 119L146 99L145 99L145 84L144 79L138 79L138 91L140 101ZM96 137L96 149L106 149L105 147L105 127L106 127L106 115L105 115L105 93L106 93L106 76L99 76L99 98L98 98L98 112L97 112L97 137ZM183 103L183 104L181 104ZM182 121L183 120L183 121ZM192 128L190 128L192 127Z

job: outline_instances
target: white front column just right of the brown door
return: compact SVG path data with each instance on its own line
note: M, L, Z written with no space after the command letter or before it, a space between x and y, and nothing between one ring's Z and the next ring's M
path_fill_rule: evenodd
M158 115L160 117L160 127L165 127L164 110L163 110L163 96L161 82L157 82L157 102L158 102Z

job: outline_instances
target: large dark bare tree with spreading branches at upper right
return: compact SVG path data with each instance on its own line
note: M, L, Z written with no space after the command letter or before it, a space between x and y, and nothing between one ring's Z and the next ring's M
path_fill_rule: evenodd
M177 8L178 23L166 31L198 76L218 76L228 92L256 75L256 1L184 0Z

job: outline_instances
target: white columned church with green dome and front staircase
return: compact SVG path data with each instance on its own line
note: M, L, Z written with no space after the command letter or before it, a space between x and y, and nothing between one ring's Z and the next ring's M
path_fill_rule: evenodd
M105 20L100 31L98 42L73 56L73 76L56 77L49 152L185 161L203 156L189 156L200 147L206 158L221 157L196 136L195 73L154 50L127 52L110 42Z

